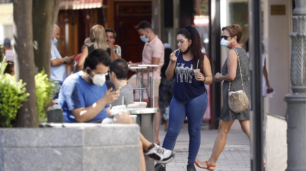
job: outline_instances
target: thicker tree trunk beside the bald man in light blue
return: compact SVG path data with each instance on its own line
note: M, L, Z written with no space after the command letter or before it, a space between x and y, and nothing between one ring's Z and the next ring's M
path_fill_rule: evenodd
M33 0L33 42L35 66L45 69L50 78L51 34L57 21L61 0Z

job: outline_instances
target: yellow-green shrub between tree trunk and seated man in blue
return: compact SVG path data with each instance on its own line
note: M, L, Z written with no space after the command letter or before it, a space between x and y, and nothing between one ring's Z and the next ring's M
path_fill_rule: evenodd
M35 75L35 90L36 90L36 105L38 121L42 121L47 117L46 106L52 100L53 82L50 81L45 71L39 72Z

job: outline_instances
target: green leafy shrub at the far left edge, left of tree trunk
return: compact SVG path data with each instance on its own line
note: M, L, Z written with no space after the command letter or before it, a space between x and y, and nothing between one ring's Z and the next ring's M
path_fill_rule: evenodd
M0 127L16 126L16 115L21 103L27 100L22 80L15 81L15 76L4 74L7 63L0 62Z

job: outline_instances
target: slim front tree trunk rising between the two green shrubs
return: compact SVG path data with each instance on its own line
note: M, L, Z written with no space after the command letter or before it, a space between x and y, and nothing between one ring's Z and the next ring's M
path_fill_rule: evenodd
M13 0L15 77L27 83L30 93L17 113L17 127L38 127L33 53L32 1Z

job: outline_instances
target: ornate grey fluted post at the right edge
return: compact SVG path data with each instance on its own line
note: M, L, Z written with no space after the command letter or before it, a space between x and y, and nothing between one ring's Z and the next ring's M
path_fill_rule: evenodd
M287 102L288 160L286 171L306 171L306 1L295 0L293 10L290 81L292 93Z

